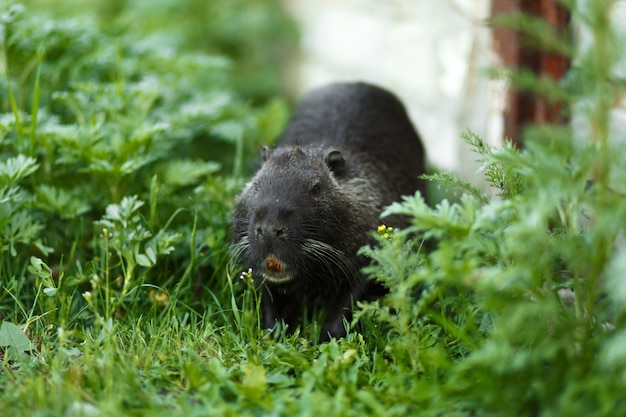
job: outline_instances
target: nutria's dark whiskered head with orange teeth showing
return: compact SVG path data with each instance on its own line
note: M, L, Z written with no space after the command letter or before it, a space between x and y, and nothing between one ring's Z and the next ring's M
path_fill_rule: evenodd
M346 171L339 150L263 150L263 165L239 196L233 222L235 254L255 279L286 289L354 274L341 246L352 215L338 182Z

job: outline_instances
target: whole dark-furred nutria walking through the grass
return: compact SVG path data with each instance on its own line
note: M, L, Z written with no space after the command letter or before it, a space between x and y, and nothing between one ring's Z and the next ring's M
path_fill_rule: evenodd
M352 304L381 293L359 248L385 206L425 191L420 138L392 93L336 83L305 95L262 159L236 202L233 247L262 287L263 324L293 327L322 307L321 340L344 336Z

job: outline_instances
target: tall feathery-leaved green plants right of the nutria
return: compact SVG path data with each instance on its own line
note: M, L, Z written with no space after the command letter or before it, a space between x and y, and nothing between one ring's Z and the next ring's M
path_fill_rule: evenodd
M549 84L552 99L566 99L575 127L528 128L521 151L466 133L497 197L466 185L457 203L406 198L385 214L411 226L366 251L390 295L363 314L387 329L390 380L417 373L397 384L424 414L610 416L626 406L626 140L614 109L625 91L614 5L569 4L591 45L547 38L571 54L568 81L524 73L524 88ZM523 19L518 28L537 26Z

